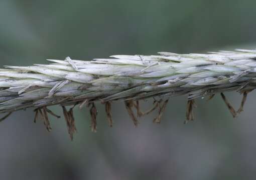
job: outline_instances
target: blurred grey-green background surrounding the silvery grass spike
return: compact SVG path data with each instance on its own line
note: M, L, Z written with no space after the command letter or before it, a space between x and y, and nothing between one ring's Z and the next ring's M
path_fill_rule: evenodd
M1 0L0 65L90 60L256 47L255 0ZM237 108L241 96L227 93ZM186 97L170 99L161 124L148 115L134 127L121 102L114 126L98 106L98 132L88 109L75 110L70 141L63 118L53 131L33 123L33 110L0 125L0 179L253 179L254 92L233 119L219 95L197 100L196 121L183 124ZM144 108L151 101L144 102ZM61 114L59 107L52 109Z

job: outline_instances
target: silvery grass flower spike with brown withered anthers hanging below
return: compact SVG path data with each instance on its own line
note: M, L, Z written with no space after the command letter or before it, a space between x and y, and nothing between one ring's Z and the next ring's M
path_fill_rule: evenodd
M48 59L51 64L6 66L0 69L0 112L35 108L35 120L43 119L51 130L48 106L60 104L71 138L76 131L73 107L90 107L91 128L96 131L95 102L105 104L107 119L112 126L111 102L124 101L125 107L138 124L138 117L158 110L154 122L159 123L168 98L186 95L187 120L193 120L194 99L220 93L233 116L242 111L246 95L256 86L256 50L210 52L208 54L112 55L91 61ZM224 91L243 94L236 111ZM154 104L141 111L139 101L153 97ZM72 105L69 110L66 106ZM137 111L137 114L134 113ZM57 115L55 115L57 116ZM59 117L59 116L57 116Z

